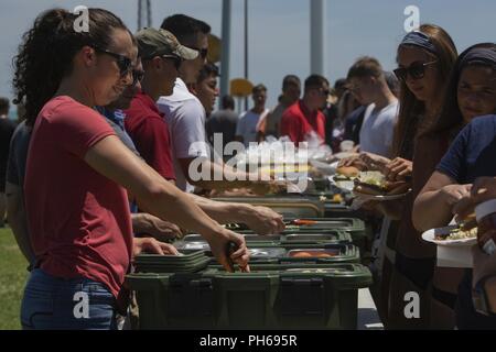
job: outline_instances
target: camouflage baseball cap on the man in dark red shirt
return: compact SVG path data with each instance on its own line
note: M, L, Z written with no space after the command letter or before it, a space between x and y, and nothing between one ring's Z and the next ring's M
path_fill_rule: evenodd
M197 51L181 45L174 34L162 29L143 29L134 36L142 58L172 55L182 59L194 59L198 56Z

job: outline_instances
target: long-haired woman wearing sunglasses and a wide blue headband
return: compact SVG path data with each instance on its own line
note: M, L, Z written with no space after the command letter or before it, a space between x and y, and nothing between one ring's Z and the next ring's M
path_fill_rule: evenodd
M396 249L395 263L385 260L382 287L389 287L388 327L392 329L427 329L430 326L429 286L432 278L435 249L422 242L411 222L411 209L416 195L427 178L422 176L424 161L418 157L419 138L427 131L441 109L445 81L456 59L456 48L450 35L441 28L423 24L407 34L398 47L400 79L400 111L395 130L391 162L381 165L389 179L411 177L412 191L402 201L401 221L393 222L388 238L389 246ZM412 162L410 162L412 161ZM381 162L379 161L379 164ZM389 208L391 208L389 205ZM384 205L388 207L388 205ZM389 276L390 275L390 276ZM419 294L420 317L408 319L405 308L406 294Z

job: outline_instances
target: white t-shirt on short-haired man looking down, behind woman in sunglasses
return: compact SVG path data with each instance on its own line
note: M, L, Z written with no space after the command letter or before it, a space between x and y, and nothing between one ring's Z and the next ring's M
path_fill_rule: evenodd
M367 107L360 130L360 152L391 157L398 108L398 100L379 110L376 110L375 103Z

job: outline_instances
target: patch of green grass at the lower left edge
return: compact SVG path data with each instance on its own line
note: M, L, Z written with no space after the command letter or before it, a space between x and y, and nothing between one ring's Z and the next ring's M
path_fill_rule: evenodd
M28 262L10 229L0 229L0 330L21 329L19 315Z

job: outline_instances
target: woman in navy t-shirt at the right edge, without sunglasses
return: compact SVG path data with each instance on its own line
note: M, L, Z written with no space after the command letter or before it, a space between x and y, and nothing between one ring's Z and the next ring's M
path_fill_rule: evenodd
M496 136L495 113L496 44L477 44L460 55L449 82L443 112L422 141L433 154L430 156L430 178L413 208L413 222L419 230L446 226L453 218L454 206L470 195L471 184L477 177L496 176L493 166L496 150L492 147ZM489 117L475 119L481 116ZM425 151L422 156L428 154ZM434 287L443 288L452 297L457 293L457 328L496 328L494 318L475 312L471 296L472 271L463 274L461 285L457 285L461 275L455 270L436 268L434 274ZM436 312L440 316L441 309Z

